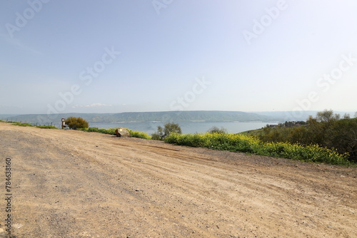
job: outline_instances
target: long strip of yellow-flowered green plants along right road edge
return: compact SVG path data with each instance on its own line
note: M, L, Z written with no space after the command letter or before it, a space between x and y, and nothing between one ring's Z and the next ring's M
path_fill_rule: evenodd
M213 150L228 150L246 152L255 155L282 157L307 162L324 162L333 165L348 165L348 153L339 154L336 150L318 145L298 145L290 143L264 143L258 138L241 134L186 134L172 133L165 138L166 143L186 145L191 147L209 148Z

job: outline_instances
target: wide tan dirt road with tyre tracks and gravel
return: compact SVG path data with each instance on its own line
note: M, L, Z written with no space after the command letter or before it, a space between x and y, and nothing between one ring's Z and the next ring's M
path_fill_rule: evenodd
M2 229L6 158L14 237L357 237L356 168L9 123Z

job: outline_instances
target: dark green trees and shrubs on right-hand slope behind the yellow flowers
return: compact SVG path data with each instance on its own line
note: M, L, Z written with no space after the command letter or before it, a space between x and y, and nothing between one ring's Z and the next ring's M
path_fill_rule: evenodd
M348 115L341 118L332 110L317 113L315 118L310 116L304 125L286 122L244 134L254 135L265 143L319 145L341 155L348 153L348 160L357 163L357 118Z

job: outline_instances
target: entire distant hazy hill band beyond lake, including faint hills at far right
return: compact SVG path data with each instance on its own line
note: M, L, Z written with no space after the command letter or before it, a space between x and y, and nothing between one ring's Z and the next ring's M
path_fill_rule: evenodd
M151 121L173 121L176 123L185 121L206 121L206 122L253 122L263 123L285 121L307 120L308 115L316 116L318 111L261 111L261 112L241 112L241 111L221 111L221 110L192 110L192 111L166 111L166 112L144 112L144 113L61 113L61 114L30 114L30 115L1 115L0 120L16 120L23 123L60 123L61 118L71 116L81 117L89 123L114 123L114 122L151 122ZM335 112L341 116L351 112Z

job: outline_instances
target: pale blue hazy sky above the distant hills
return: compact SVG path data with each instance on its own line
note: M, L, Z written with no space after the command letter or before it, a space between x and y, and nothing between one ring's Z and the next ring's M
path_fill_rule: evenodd
M0 114L356 111L357 1L0 1Z

